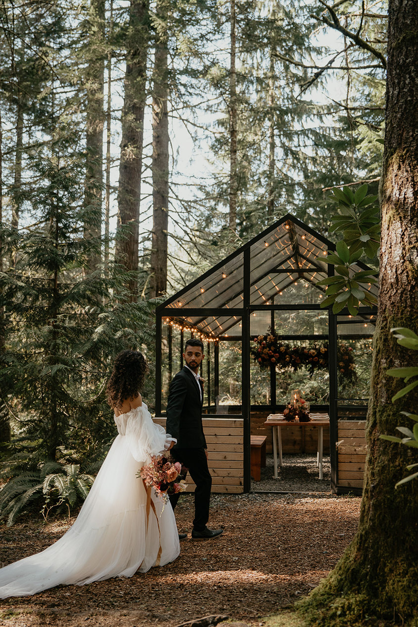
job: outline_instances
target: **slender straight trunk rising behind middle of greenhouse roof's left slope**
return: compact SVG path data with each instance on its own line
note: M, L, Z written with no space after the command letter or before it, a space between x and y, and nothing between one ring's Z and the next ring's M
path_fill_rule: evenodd
M236 102L236 6L231 0L231 55L229 68L229 228L235 232L238 196Z

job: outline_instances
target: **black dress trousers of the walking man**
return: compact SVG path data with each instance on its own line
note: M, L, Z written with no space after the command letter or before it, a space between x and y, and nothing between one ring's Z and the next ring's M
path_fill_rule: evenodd
M209 520L209 501L211 500L212 477L207 467L207 458L204 448L177 448L170 451L175 461L179 461L187 468L194 483L194 520L193 529L202 531ZM187 475L182 473L182 478ZM170 494L170 503L174 509L180 493Z

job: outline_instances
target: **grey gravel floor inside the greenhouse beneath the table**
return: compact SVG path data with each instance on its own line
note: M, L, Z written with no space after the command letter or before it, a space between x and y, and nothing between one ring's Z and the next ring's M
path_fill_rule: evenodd
M273 455L266 455L266 467L261 468L261 481L251 481L251 490L262 492L331 492L330 456L323 458L323 479L318 478L316 454L283 455L283 466L274 478Z

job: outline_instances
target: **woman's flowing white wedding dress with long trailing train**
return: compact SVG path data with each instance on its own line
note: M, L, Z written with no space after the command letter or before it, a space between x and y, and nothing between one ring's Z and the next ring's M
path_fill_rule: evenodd
M132 577L180 553L170 503L137 478L171 438L145 404L115 416L118 436L72 527L48 549L0 569L0 598L27 596L58 584Z

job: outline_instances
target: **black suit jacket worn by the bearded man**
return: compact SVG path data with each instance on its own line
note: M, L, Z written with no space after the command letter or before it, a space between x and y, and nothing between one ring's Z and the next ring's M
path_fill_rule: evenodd
M175 448L206 448L198 386L193 373L186 367L177 372L170 383L166 431L177 438Z

